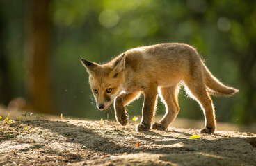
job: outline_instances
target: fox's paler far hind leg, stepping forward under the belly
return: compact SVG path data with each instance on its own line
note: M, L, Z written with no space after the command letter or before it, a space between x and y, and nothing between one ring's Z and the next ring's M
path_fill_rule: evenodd
M160 122L155 122L152 125L152 129L165 130L169 124L175 120L177 114L179 113L177 93L179 93L179 88L177 88L177 85L161 88L161 100L166 106L166 115L163 116Z

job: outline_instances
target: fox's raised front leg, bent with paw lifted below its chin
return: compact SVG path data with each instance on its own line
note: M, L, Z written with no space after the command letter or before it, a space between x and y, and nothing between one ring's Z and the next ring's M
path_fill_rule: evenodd
M132 100L136 98L136 96L139 95L139 92L135 93L122 93L121 95L118 95L117 98L115 98L115 118L116 120L125 126L128 122L127 116L126 116L126 110L125 105L129 104Z

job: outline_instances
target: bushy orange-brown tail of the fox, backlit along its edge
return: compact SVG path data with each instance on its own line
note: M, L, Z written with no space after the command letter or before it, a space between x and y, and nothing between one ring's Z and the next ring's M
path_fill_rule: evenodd
M205 66L205 84L209 88L209 93L211 95L224 95L231 96L239 91L239 89L234 89L232 87L225 86L222 84Z

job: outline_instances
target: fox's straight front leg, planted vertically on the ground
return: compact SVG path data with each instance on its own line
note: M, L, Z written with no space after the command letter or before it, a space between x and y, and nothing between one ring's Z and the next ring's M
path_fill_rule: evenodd
M157 101L157 86L149 86L143 93L144 104L142 110L141 124L138 124L136 126L136 131L150 130L152 118L154 116L154 109Z

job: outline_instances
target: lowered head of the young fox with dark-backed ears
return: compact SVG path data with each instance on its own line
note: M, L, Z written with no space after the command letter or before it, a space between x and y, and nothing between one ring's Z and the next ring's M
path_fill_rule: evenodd
M81 59L89 74L90 89L95 97L97 107L107 109L122 91L125 82L125 53L111 62L100 65Z

